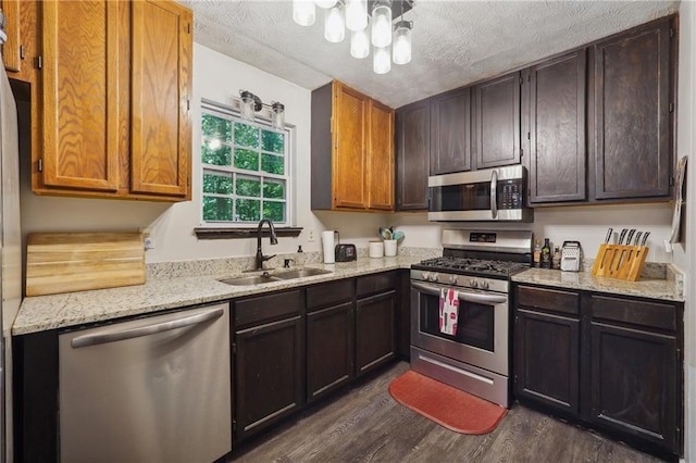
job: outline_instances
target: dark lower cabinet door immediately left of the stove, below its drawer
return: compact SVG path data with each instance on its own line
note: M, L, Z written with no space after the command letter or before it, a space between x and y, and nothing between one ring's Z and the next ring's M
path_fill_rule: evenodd
M396 291L360 299L356 304L357 375L396 355Z

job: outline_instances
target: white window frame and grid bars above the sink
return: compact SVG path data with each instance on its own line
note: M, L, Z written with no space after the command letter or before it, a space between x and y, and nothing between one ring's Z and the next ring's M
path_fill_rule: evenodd
M201 199L200 199L200 208L199 208L199 217L200 217L200 224L201 224L201 228L248 228L250 226L256 226L257 222L234 222L234 221L206 221L203 218L203 198L204 197L210 197L210 196L220 196L220 197L224 197L224 198L229 198L233 201L233 208L235 207L235 200L237 198L236 192L235 192L235 186L236 186L236 178L238 176L244 177L244 176L254 176L254 177L260 177L261 178L261 198L259 198L261 200L261 203L263 204L263 180L265 179L281 179L285 182L285 198L284 198L284 202L285 202L285 222L276 222L274 221L273 223L278 226L278 227L291 227L295 223L295 189L294 189L294 172L293 172L293 165L294 165L294 160L295 160L295 142L294 142L294 132L295 132L295 127L286 124L285 128L283 130L278 130L277 128L273 127L271 125L271 121L260 117L257 115L257 117L254 118L254 121L248 121L241 117L240 112L229 105L226 104L222 104L215 101L211 101L211 100L207 100L207 99L201 99L201 120L200 120L200 128L201 128L201 145L204 142L203 139L203 133L202 133L202 116L203 114L212 114L214 116L217 117L222 117L222 118L226 118L232 121L233 123L233 140L232 140L232 164L229 166L224 166L224 165L211 165L211 164L206 164L203 163L203 153L202 150L199 150L198 153L198 161L200 162L200 195L201 195ZM239 122L243 124L247 124L247 125L251 125L251 126L257 126L259 128L262 128L264 130L270 130L270 132L283 132L285 134L285 153L284 153L284 172L285 175L277 175L277 174L271 174L268 172L263 172L261 171L261 159L259 159L259 171L246 171L243 168L238 168L234 166L234 150L235 150L235 145L234 145L234 123L235 122ZM261 140L260 140L261 142ZM261 146L259 147L259 153L263 153L264 151L261 149ZM273 154L273 153L271 153ZM232 195L212 195L212 193L207 193L203 192L203 178L206 174L210 174L210 173L223 173L223 174L232 174L233 175L233 193ZM253 198L254 200L258 198ZM270 199L269 201L273 201L273 199ZM234 209L233 209L234 211ZM263 207L261 207L261 214L263 214ZM263 216L261 218L264 218Z

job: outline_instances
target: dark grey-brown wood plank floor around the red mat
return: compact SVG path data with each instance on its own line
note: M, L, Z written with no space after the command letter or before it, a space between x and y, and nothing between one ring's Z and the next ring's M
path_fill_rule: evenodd
M399 362L236 451L234 462L659 462L623 443L514 404L483 436L446 429L396 403Z

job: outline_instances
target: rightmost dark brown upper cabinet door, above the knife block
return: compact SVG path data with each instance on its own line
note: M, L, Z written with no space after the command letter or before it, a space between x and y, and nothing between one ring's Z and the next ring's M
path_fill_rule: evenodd
M669 197L670 23L594 47L595 198Z

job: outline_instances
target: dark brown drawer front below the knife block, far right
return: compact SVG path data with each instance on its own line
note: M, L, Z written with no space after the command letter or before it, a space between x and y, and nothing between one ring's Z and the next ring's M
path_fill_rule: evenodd
M660 302L592 296L592 317L676 330L676 308Z

